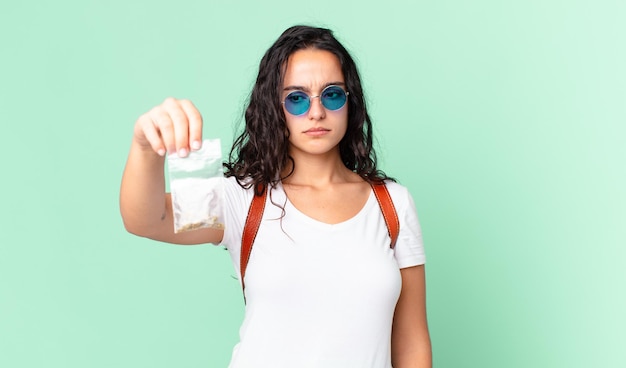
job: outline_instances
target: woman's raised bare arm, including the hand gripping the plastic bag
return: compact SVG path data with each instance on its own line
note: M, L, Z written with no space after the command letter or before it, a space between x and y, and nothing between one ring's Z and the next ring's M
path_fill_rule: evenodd
M202 141L202 117L186 100L168 98L139 117L120 189L120 212L129 232L175 244L219 243L223 230L174 233L172 200L165 193L165 153L186 156Z

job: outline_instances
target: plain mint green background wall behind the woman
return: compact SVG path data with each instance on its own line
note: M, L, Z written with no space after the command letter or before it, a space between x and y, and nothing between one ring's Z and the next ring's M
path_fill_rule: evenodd
M626 366L625 19L619 0L3 1L0 366L227 365L227 252L126 233L121 173L168 96L226 150L298 23L353 53L415 197L435 366Z

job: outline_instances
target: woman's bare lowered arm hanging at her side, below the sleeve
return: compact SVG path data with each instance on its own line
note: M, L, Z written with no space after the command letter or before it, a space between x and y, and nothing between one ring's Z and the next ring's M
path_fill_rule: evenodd
M402 291L393 318L391 362L394 368L431 368L424 266L403 268L400 273Z

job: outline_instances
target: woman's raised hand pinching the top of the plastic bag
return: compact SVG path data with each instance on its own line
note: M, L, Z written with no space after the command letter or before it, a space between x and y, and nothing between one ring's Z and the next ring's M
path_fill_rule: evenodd
M134 141L159 156L186 157L202 145L202 116L191 101L167 98L137 119Z

